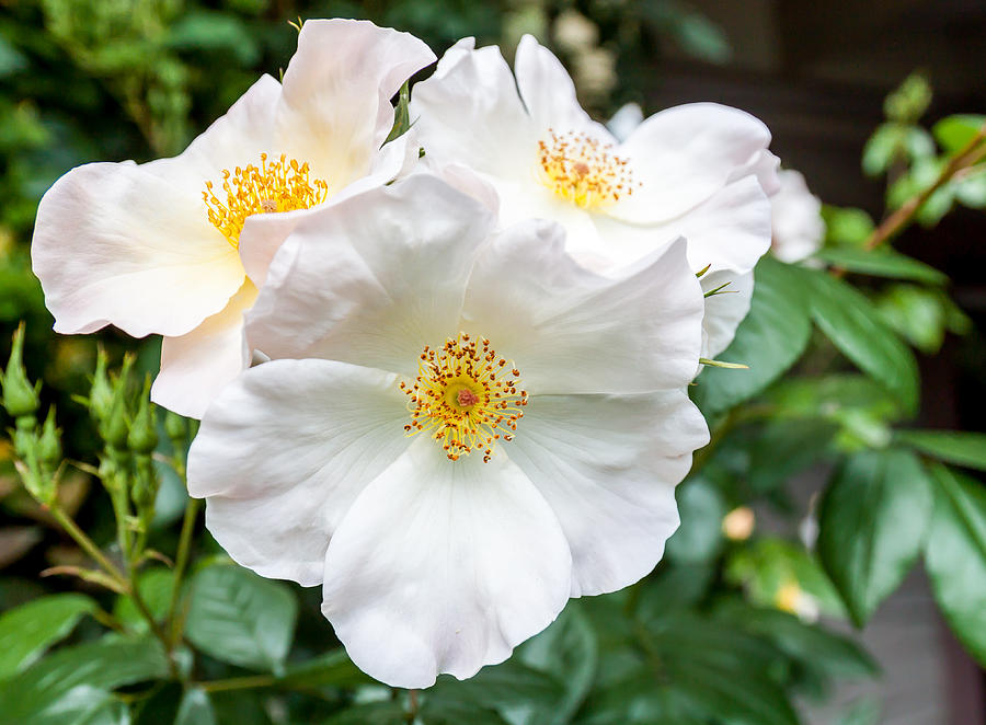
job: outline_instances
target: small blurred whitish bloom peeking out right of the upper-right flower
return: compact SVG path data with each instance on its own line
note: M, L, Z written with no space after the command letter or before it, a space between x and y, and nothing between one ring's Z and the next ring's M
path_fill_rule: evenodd
M781 262L801 262L822 248L825 238L822 200L809 191L800 172L784 169L777 177L780 189L770 197L771 252Z

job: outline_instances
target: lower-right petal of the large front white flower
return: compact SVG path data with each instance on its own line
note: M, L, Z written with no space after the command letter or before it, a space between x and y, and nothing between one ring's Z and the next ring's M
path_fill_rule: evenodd
M709 441L681 390L534 395L504 452L554 510L572 550L572 596L645 576L678 527L675 485Z

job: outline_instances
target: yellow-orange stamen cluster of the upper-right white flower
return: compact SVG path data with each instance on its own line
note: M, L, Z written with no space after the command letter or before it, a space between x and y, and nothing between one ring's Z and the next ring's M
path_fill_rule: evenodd
M557 134L538 141L538 177L560 197L583 209L596 209L633 194L634 183L627 159L616 156L611 143L586 134Z

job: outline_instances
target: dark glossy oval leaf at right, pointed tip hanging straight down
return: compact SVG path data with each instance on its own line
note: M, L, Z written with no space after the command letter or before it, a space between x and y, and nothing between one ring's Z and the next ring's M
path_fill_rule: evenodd
M910 451L862 451L836 473L819 506L817 551L859 626L910 569L931 507Z

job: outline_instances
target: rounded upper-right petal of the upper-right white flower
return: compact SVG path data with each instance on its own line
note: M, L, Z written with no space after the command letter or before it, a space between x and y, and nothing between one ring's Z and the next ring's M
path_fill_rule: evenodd
M677 217L747 170L770 143L749 114L715 103L668 108L644 120L617 150L640 188L610 214L640 223Z

